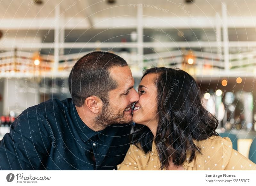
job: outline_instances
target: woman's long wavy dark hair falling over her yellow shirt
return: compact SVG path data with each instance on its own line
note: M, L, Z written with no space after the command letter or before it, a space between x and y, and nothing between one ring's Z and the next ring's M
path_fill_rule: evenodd
M201 153L193 139L204 140L212 135L218 136L215 130L219 121L202 105L199 87L187 72L164 67L151 68L145 71L143 77L151 73L157 75L156 136L154 138L145 125L135 124L131 142L139 144L148 153L152 150L154 138L161 169L168 169L170 163L181 165L188 153L191 162L196 152Z

